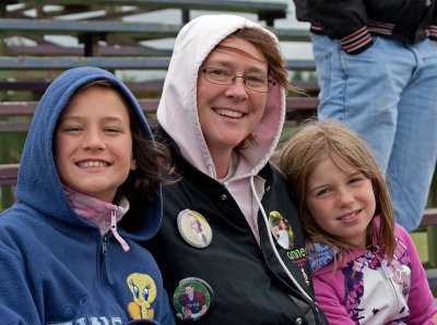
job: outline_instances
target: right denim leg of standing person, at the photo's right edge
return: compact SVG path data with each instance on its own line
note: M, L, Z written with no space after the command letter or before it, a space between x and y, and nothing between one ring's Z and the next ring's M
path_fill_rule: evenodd
M397 221L408 231L421 222L437 159L437 46L409 45L417 68L398 106L388 176Z

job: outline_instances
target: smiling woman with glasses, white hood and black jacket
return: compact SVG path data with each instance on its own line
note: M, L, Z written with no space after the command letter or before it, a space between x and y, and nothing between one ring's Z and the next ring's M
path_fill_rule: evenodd
M162 228L147 249L179 323L327 324L296 207L269 164L284 122L286 76L276 37L244 17L200 16L176 39L157 140L180 180L163 188ZM204 244L191 233L190 214ZM279 217L293 234L288 249L272 230ZM198 294L180 305L186 286ZM205 311L193 316L200 303Z

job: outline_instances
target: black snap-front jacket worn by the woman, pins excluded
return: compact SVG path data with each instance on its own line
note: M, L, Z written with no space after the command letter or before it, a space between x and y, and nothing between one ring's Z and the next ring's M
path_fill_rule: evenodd
M146 242L162 270L170 303L175 301L178 282L196 277L210 285L214 299L208 314L196 324L328 324L314 302L303 230L285 179L270 164L261 170L260 176L265 179L261 204L267 215L277 210L287 218L294 246L287 251L275 244L286 267L312 301L297 290L280 266L261 214L258 216L260 248L226 188L193 168L166 134L161 134L157 141L169 146L181 177L177 183L163 186L162 226L154 239ZM200 213L211 226L212 241L206 248L199 249L184 240L177 218L185 209ZM177 320L177 323L186 322Z

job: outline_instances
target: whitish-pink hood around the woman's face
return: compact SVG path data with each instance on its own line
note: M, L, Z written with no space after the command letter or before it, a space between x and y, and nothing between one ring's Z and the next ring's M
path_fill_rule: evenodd
M277 38L260 25L236 15L203 15L192 20L180 31L160 106L157 120L177 143L184 157L196 168L216 179L205 140L200 128L197 110L198 71L212 49L238 28L264 29L277 44ZM255 177L272 156L285 118L285 91L276 84L268 95L264 113L252 131L256 144L241 151L240 162L234 176L225 182L239 207L258 234L253 224L252 197L249 179ZM257 181L257 180L256 180ZM262 189L256 184L257 189ZM262 195L261 190L261 195ZM256 195L256 193L253 193Z

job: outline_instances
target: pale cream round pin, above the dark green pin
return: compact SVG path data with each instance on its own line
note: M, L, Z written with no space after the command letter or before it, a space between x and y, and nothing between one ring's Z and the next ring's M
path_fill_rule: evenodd
M197 249L206 248L212 240L212 230L206 219L198 212L184 209L177 217L178 229L186 242Z

